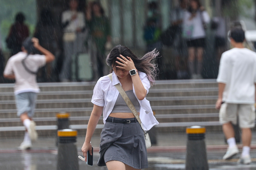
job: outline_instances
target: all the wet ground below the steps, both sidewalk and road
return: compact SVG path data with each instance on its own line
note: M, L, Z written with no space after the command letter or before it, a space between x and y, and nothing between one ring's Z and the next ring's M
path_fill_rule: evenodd
M0 139L0 170L55 170L57 169L58 147L53 137L39 138L33 143L33 148L20 151L17 146L22 138ZM178 133L161 133L157 135L156 146L148 149L147 170L185 169L187 135ZM82 155L80 148L84 137L77 138L77 152ZM211 170L255 170L256 169L256 133L253 133L250 165L237 164L239 154L231 160L222 160L227 145L222 133L206 133L208 165ZM94 147L94 165L87 166L79 159L80 170L106 170L106 166L97 166L99 159L99 136L92 138ZM241 145L239 150L241 152Z

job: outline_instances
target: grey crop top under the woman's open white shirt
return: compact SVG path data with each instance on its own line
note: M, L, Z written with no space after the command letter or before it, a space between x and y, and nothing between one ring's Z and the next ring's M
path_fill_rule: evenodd
M133 90L128 90L125 93L131 100L131 102L132 102L133 106L135 107L135 109L137 110L137 112L140 112L140 103L136 99L136 97L133 93ZM111 113L119 113L119 112L120 113L132 113L131 109L127 106L127 104L125 103L125 101L120 93L117 97L116 103L115 103L114 108Z

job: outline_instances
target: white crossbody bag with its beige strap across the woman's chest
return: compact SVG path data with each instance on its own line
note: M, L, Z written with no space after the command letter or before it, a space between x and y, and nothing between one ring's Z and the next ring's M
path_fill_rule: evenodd
M112 73L108 75L108 77L110 78L110 80L112 81ZM121 85L118 83L116 86L116 89L119 91L119 93L121 94L121 96L123 97L125 103L127 104L127 106L131 109L133 115L135 116L135 118L137 119L137 121L140 123L141 129L144 132L144 136L145 136L145 143L146 143L146 148L150 148L152 146L151 141L150 141L150 137L148 132L146 132L143 128L143 125L141 123L140 120L140 116L138 115L135 107L133 106L131 100L129 99L129 97L127 96L127 94L125 93L124 89L121 87Z

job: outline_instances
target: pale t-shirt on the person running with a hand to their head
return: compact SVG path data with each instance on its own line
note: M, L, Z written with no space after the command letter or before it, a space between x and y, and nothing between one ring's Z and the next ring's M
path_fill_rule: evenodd
M40 92L36 82L36 75L25 70L21 61L27 56L25 52L19 52L13 55L7 62L4 74L15 75L14 94L17 95L22 92ZM36 72L40 67L46 63L45 55L28 55L25 64L29 70Z

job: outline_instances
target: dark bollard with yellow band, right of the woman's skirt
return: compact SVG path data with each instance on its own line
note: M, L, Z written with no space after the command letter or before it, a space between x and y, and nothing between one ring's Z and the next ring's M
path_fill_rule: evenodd
M208 170L209 166L204 142L205 127L187 127L186 133L188 134L186 170Z

